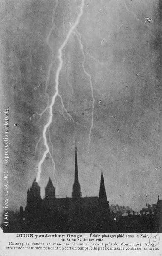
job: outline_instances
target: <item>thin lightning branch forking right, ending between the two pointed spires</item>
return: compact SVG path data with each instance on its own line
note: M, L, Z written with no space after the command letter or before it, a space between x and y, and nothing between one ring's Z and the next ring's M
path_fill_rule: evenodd
M81 42L81 34L78 32L77 29L75 29L75 31L73 31L73 33L76 35L77 39L78 39L78 42L80 44L80 49L81 49L81 53L83 55L83 62L82 62L82 68L83 68L83 71L84 73L86 74L86 76L89 78L89 82L90 82L90 87L91 87L91 95L92 95L92 99L93 99L93 102L92 102L92 119L91 119L91 126L90 126L90 132L88 134L88 137L89 137L89 145L90 145L90 136L91 136L91 133L92 133L92 128L93 128L93 118L94 118L94 103L95 103L95 98L94 98L94 95L93 95L93 85L92 85L92 77L91 75L86 71L85 69L85 61L86 61L86 56L84 54L84 49L83 49L83 44Z

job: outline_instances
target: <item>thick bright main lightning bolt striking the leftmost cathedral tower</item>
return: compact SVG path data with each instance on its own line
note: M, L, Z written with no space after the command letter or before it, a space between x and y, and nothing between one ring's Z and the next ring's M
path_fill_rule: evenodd
M49 126L52 122L52 116L53 116L52 108L53 108L53 105L55 104L56 97L59 96L61 98L61 96L59 94L58 86L59 86L59 76L60 76L60 72L61 72L62 66L63 66L63 58L62 58L63 53L62 52L63 52L64 47L67 45L67 42L68 42L72 32L74 31L74 29L78 26L78 23L80 22L80 18L83 15L83 8L84 8L84 0L81 1L80 12L78 13L78 15L76 17L75 23L73 23L73 25L69 29L69 32L67 33L67 36L66 36L63 44L58 49L59 64L58 64L58 69L56 70L56 75L55 75L55 93L52 97L52 101L51 101L50 105L48 106L49 120L48 120L48 122L46 123L46 125L44 126L44 129L43 129L43 139L44 139L44 146L45 146L46 150L44 151L43 157L41 158L40 162L38 163L37 182L40 179L42 163L44 162L44 160L46 158L46 155L49 153L49 145L48 145L47 138L46 138L46 131L49 128ZM63 104L63 102L61 102L61 103Z

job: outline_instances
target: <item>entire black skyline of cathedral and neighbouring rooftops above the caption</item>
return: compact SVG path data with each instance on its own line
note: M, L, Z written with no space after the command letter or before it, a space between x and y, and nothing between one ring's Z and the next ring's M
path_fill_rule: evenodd
M99 184L98 184L99 185ZM19 218L13 217L10 233L161 233L162 200L151 208L143 208L140 215L127 211L110 212L101 174L99 196L82 197L78 180L77 148L75 148L75 178L71 198L56 198L55 187L49 178L45 198L40 196L40 186L33 181L27 192L27 205L20 207ZM154 212L153 212L153 210Z

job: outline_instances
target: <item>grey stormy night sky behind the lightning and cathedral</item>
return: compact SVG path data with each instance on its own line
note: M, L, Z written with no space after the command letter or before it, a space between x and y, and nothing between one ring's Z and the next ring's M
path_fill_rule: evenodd
M103 169L110 204L139 211L158 195L162 199L158 1L0 5L1 117L10 108L9 208L26 205L27 189L38 178L53 96L49 153L38 182L42 197L49 177L57 197L71 197L76 141L83 196L98 195Z

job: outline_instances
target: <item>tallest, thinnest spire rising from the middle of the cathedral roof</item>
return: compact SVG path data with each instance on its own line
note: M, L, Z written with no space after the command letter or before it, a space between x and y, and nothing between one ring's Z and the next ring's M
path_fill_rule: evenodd
M78 178L78 163L77 163L77 147L75 146L75 176L72 190L72 197L75 199L81 198L81 186Z

